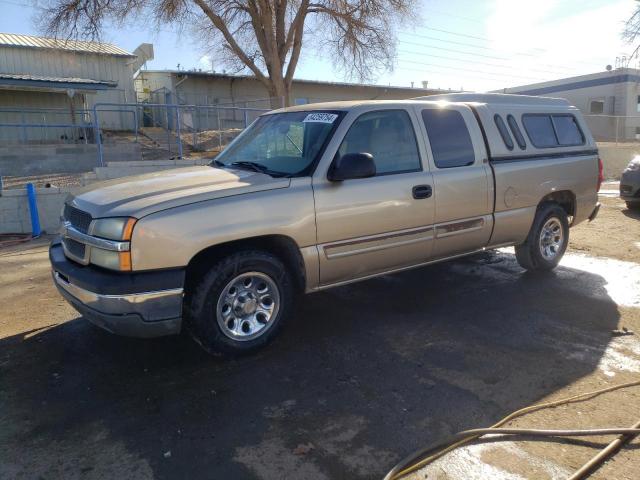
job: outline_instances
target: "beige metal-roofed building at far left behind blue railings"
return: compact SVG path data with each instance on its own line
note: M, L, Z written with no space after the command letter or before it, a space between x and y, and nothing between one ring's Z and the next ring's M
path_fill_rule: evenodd
M82 124L95 103L135 102L133 73L140 63L108 43L0 33L0 123ZM122 113L100 120L105 128L132 127ZM18 134L28 143L66 140L76 135L71 130L2 127L0 142Z

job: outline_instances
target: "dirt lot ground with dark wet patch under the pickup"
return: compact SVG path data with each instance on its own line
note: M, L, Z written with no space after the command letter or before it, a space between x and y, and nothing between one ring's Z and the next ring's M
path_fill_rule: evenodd
M2 249L0 478L380 478L456 431L636 380L640 215L602 201L553 273L505 249L314 294L237 360L92 327L54 290L45 241ZM510 426L628 427L639 412L634 388ZM487 439L413 478L566 478L608 440ZM639 471L636 441L593 478Z

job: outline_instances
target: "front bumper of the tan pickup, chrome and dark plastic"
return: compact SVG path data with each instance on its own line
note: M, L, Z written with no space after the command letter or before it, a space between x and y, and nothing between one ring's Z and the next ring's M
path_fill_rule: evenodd
M68 260L54 241L53 281L87 320L119 335L158 337L180 332L184 272L111 273ZM165 286L169 288L155 288Z

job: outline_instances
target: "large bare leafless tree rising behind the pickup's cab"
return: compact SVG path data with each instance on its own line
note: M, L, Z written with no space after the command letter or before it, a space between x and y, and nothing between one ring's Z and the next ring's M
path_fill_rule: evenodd
M249 70L271 97L289 93L303 43L331 55L347 76L391 69L395 25L414 0L49 0L44 29L98 39L106 22L190 26L216 59Z

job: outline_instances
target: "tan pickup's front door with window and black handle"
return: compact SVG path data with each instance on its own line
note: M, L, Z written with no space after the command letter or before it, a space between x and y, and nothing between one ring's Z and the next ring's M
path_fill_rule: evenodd
M397 107L369 111L349 127L335 155L370 153L375 177L331 182L327 165L322 175L314 177L322 285L429 258L432 177L423 168L423 144L416 138L414 115Z

